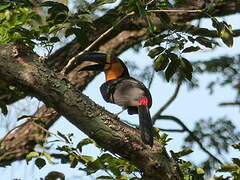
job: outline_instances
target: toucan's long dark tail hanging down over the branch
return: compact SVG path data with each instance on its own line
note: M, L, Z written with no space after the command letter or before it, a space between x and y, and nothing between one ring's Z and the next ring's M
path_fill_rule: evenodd
M142 98L143 99L143 98ZM146 99L146 98L144 98ZM141 131L141 138L145 144L153 146L153 125L150 112L146 103L141 103L138 106L139 127Z

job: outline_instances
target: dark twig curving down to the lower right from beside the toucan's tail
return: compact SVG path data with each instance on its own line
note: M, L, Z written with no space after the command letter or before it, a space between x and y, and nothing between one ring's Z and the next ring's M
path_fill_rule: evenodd
M210 151L208 151L203 144L201 143L200 139L190 130L188 129L188 127L177 117L175 116L168 116L168 115L164 115L164 116L159 116L159 119L167 119L167 120L172 120L175 121L177 124L179 124L185 131L187 131L189 133L189 135L194 139L194 141L199 145L199 147L205 152L207 153L210 157L212 157L214 160L216 160L218 163L222 164L222 162L215 157Z

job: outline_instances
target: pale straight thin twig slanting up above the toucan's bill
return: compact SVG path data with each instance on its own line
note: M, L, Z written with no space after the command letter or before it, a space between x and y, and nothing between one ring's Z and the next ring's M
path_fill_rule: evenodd
M122 19L120 19L117 24L115 24L114 26L110 27L108 30L106 30L104 33L102 33L95 41L93 41L87 48L85 48L83 51L81 51L80 53L78 53L76 56L72 57L68 64L63 68L63 70L61 71L62 74L66 74L67 70L69 67L71 67L73 64L75 64L75 62L77 61L77 58L79 56L81 56L82 54L84 54L85 52L89 51L93 46L95 46L100 40L102 40L106 35L108 35L117 25L119 25L122 21L124 21L127 17L131 16L135 14L134 11L128 13L126 16L124 16Z

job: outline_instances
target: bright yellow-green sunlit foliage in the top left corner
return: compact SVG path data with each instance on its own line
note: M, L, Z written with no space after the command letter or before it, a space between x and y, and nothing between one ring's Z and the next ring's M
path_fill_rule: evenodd
M26 3L26 1L25 1ZM8 44L12 42L24 42L32 45L31 39L36 36L36 32L29 30L31 20L39 20L37 14L32 12L24 2L15 4L12 1L0 3L0 43ZM25 4L26 5L26 4ZM25 26L25 27L24 27Z

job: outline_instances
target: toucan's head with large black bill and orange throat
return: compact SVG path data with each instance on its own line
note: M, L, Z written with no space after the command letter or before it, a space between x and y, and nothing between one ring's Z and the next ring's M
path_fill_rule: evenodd
M129 76L126 65L119 58L103 53L86 53L78 57L79 61L92 61L96 64L86 66L80 71L104 71L106 81Z

